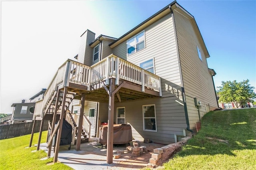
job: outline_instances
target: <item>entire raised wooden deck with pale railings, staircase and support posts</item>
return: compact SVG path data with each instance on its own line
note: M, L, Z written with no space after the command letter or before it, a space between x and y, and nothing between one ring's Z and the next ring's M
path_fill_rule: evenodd
M110 55L91 67L68 59L59 67L44 94L44 99L36 103L35 115L40 115L42 122L48 120L51 129L48 140L48 157L51 154L54 134L57 134L54 152L54 162L57 162L62 130L60 127L62 127L63 119L67 119L67 115L70 114L68 107L73 99L81 101L78 121L71 120L78 127L76 128L78 129L77 134L82 134L82 129L84 129L85 101L108 103L108 148L106 155L107 163L111 164L113 162L114 103L160 96L162 96L160 77L115 55ZM88 119L86 121L88 122L87 125L90 126ZM90 127L87 130L87 133L90 134ZM41 135L38 140L38 149L40 138ZM80 139L81 135L78 135L77 151L80 150Z

